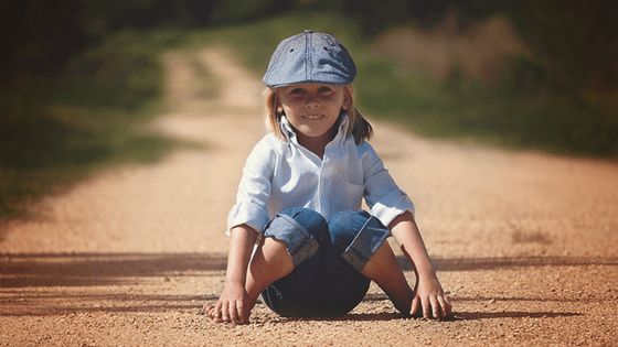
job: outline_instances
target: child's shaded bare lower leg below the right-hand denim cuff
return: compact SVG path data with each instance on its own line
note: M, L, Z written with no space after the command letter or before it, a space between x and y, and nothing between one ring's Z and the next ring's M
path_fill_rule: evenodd
M395 308L409 315L414 293L387 241L380 246L361 273L380 285Z

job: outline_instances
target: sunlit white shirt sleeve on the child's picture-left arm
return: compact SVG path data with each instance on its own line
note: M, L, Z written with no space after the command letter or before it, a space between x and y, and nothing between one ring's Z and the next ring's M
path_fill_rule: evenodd
M271 156L276 154L266 145L265 140L258 142L247 158L236 194L236 204L227 216L227 231L246 224L262 235L269 220L268 200L274 163Z

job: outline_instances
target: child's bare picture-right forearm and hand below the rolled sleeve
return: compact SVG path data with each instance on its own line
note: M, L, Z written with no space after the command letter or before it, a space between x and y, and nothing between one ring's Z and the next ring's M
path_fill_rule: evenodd
M448 317L451 305L429 260L414 216L409 212L401 214L388 225L388 228L411 262L417 279L409 314L414 316L423 313L424 317L434 318ZM422 312L418 311L419 308Z

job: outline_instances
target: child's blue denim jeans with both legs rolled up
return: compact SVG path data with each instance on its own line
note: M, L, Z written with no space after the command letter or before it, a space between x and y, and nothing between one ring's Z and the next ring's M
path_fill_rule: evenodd
M340 316L365 296L371 280L360 271L390 231L364 210L341 212L327 223L315 210L290 208L264 236L285 242L295 265L264 290L266 305L281 316Z

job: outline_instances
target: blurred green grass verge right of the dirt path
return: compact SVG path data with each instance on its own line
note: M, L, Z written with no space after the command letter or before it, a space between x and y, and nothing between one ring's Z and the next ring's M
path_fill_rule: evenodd
M558 155L618 158L618 115L578 91L522 90L509 72L487 87L457 74L436 84L388 62L364 67L369 74L359 77L356 94L367 113L420 135Z

